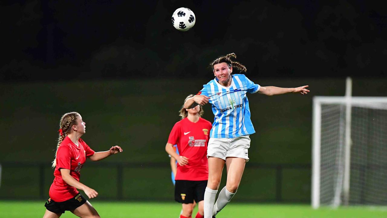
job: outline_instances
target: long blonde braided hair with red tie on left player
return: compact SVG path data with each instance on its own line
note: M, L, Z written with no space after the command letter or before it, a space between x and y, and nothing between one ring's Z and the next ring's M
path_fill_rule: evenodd
M57 151L55 152L55 159L52 161L52 167L55 168L57 166L57 153L60 143L65 139L66 135L71 132L71 127L73 125L77 125L77 118L79 116L78 112L69 112L66 113L60 118L59 121L59 131L62 130L62 132L59 133L58 138L58 144L57 144Z

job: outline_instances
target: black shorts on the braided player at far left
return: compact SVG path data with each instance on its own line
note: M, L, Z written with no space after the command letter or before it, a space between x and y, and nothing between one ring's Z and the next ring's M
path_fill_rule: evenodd
M73 211L82 204L86 203L86 198L79 192L75 197L68 199L67 201L55 202L49 198L46 201L45 207L53 213L65 213L65 211Z

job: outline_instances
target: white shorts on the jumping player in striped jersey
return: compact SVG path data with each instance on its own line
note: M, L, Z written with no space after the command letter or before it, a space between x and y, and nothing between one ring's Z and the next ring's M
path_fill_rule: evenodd
M250 148L249 135L242 135L236 138L210 138L208 140L207 158L219 157L226 160L226 157L241 157L248 159Z

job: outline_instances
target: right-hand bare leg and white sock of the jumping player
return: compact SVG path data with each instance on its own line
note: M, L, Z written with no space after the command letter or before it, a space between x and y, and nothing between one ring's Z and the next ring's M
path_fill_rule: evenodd
M230 202L235 195L236 190L241 182L243 171L245 170L246 159L240 157L227 157L227 182L226 186L219 192L218 199L214 205L212 215L216 216L221 209Z

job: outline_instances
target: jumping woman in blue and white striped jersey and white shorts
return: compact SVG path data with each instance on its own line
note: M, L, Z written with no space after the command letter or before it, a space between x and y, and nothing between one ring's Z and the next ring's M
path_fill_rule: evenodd
M261 87L250 81L244 74L234 74L233 67L246 72L246 67L236 61L234 53L212 61L210 66L215 79L203 85L202 90L187 99L184 108L212 104L214 123L208 142L208 183L204 194L204 218L215 217L235 195L240 184L245 163L249 160L249 135L255 133L250 120L250 109L246 93L280 95L285 93L307 94L306 86L297 88ZM226 186L219 192L223 166L227 167Z

